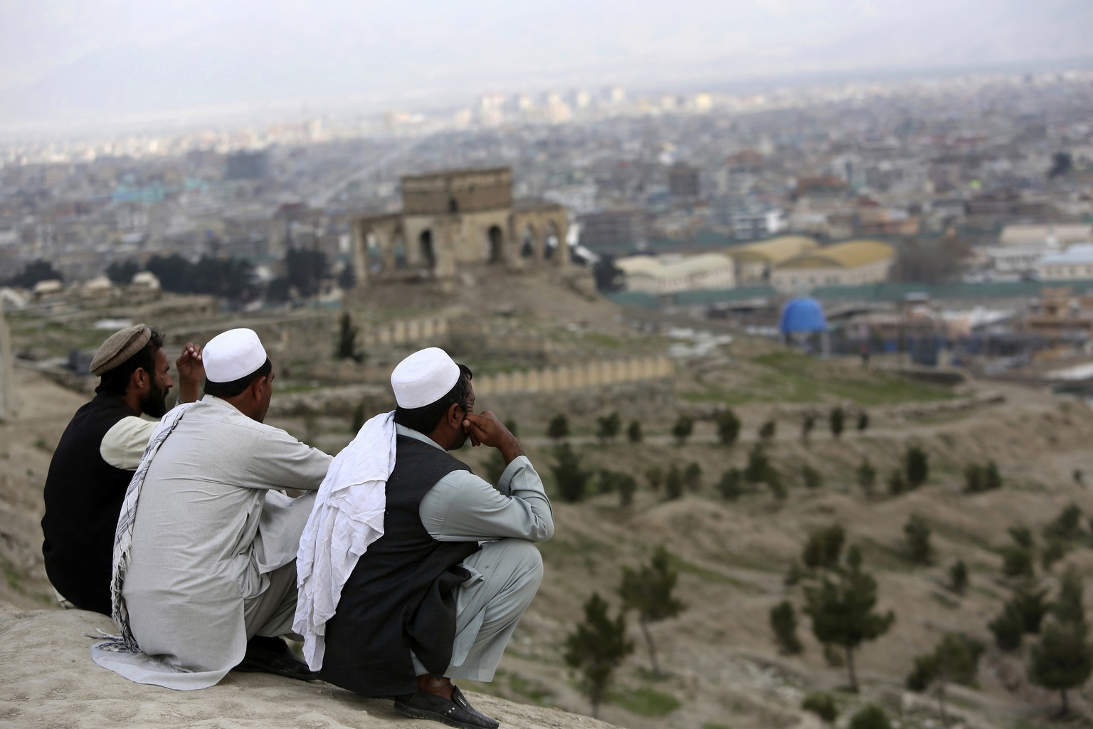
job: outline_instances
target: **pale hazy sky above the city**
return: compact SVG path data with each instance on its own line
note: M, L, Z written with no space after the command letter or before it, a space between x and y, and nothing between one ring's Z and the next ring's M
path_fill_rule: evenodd
M1088 0L0 0L0 124L1089 57Z

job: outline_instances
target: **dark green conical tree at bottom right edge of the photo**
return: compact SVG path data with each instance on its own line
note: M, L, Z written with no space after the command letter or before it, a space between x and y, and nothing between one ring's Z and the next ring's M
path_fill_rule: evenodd
M1039 640L1033 645L1029 680L1059 692L1060 714L1070 712L1067 691L1085 683L1093 672L1093 646L1082 604L1082 579L1070 568L1059 586L1059 595Z

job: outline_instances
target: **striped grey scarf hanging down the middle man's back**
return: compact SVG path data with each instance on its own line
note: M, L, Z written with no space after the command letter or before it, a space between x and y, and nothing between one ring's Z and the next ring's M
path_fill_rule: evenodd
M110 578L110 616L121 630L121 635L108 635L106 640L95 647L114 652L136 654L140 652L137 639L129 627L129 611L126 609L126 599L121 595L121 588L126 581L126 572L129 569L129 562L132 557L130 552L133 545L133 525L137 521L137 501L140 498L140 490L144 485L144 477L148 475L149 466L155 458L160 446L167 439L171 432L175 430L183 415L189 410L192 402L184 402L168 412L156 425L149 438L148 447L140 459L140 466L129 481L126 489L125 501L121 502L121 513L118 515L118 529L114 532L114 575Z

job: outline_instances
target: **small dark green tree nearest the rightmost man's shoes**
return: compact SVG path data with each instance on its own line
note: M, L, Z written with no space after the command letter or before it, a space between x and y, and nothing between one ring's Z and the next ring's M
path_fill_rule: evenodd
M565 638L565 662L580 673L580 691L592 704L592 716L599 716L600 704L607 698L614 670L634 652L626 639L626 616L608 616L608 603L598 593L585 603L585 622Z

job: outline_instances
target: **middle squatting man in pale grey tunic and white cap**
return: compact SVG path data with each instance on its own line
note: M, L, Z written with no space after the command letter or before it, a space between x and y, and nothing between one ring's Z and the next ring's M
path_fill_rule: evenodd
M218 334L202 358L204 397L164 416L130 483L114 546L121 635L92 657L178 690L211 686L240 662L313 678L277 636L292 635L314 494L279 490L315 491L330 456L263 423L273 372L254 331ZM248 650L256 636L280 648Z

